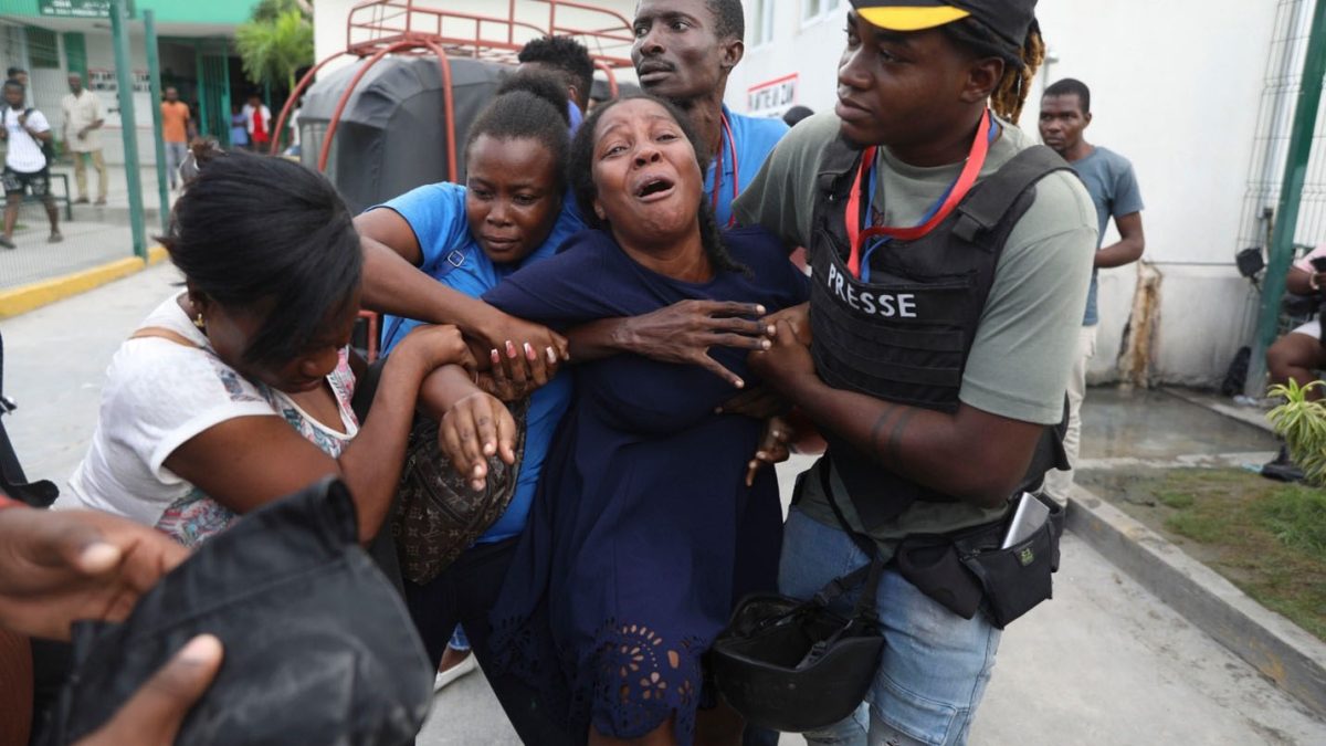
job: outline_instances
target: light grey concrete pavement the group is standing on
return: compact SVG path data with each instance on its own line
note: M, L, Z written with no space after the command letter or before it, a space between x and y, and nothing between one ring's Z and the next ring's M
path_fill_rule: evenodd
M5 426L29 477L62 486L95 425L106 362L174 281L172 267L154 267L0 321L5 393L20 405ZM780 467L785 490L806 463ZM1005 632L971 742L1307 746L1326 743L1326 723L1067 535L1055 599ZM419 743L517 741L473 674L436 698Z

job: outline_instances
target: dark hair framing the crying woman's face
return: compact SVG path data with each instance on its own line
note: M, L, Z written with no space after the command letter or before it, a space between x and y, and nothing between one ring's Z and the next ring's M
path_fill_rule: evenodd
M606 228L607 222L601 219L597 212L594 212L594 198L598 196L598 187L594 186L594 130L598 127L598 121L603 118L613 106L623 101L638 101L638 100L652 101L662 106L672 121L682 127L682 134L691 143L691 150L695 151L695 161L700 165L700 174L703 178L704 170L709 167L708 150L704 147L704 142L695 133L695 127L691 126L691 119L682 113L671 101L659 98L656 96L650 96L648 93L626 93L618 98L614 98L606 104L599 104L593 112L585 117L585 122L581 123L579 130L575 131L575 139L572 141L572 157L568 166L566 182L572 192L575 194L575 203L579 207L581 216L585 223L591 228ZM727 247L723 246L723 236L719 232L719 223L713 216L713 206L709 204L708 195L700 195L700 242L704 244L704 254L708 255L709 263L713 264L716 271L728 272L744 272L748 273L751 269L745 265L737 263L728 254Z

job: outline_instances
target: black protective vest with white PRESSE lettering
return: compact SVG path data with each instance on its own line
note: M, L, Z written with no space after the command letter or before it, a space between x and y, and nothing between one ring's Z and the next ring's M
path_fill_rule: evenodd
M1036 183L1070 170L1053 150L1033 146L976 183L926 236L892 240L870 261L862 283L847 271L843 211L862 151L841 137L825 150L815 183L810 264L812 356L835 389L936 411L957 411L957 392L1004 243L1036 200ZM866 207L869 210L869 206ZM859 215L850 219L859 220ZM1028 361L1034 365L1036 361ZM1046 427L1021 490L1040 487L1046 471L1066 467L1065 419ZM879 466L841 438L829 454L867 531L915 500L955 502Z

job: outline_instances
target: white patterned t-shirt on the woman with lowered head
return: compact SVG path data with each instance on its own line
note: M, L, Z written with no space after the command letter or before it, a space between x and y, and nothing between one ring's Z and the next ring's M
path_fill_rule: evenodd
M57 508L91 508L154 526L192 546L235 515L183 481L164 462L194 435L236 417L284 417L333 458L357 434L349 410L354 377L342 354L329 376L345 433L308 417L288 397L255 385L211 352L207 337L171 296L139 325L170 329L198 346L162 337L125 341L106 370L101 413L88 455Z

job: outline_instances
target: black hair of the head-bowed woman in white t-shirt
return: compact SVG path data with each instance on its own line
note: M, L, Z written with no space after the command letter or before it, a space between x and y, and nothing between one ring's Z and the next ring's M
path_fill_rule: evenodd
M192 289L265 312L244 358L284 364L309 349L359 287L363 259L335 188L298 163L247 153L207 159L160 243Z

